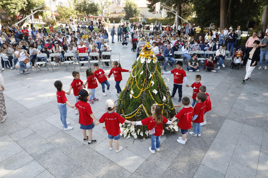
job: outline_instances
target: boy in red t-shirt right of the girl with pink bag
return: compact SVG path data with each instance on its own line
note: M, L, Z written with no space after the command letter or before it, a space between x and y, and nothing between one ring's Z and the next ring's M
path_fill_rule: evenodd
M183 97L181 103L184 105L184 107L180 110L180 112L175 115L175 117L172 119L172 124L175 120L178 119L178 127L181 129L181 134L182 136L177 139L177 142L181 144L185 144L187 141L187 136L188 136L188 129L191 128L191 121L193 118L193 113L194 110L192 107L189 107L190 99L185 96Z

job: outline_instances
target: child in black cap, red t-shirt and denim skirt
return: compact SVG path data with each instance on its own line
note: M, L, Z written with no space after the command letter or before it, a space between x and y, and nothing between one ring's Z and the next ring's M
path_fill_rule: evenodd
M84 141L88 140L88 144L94 144L97 142L97 140L92 140L92 129L94 128L94 122L97 122L97 119L91 110L90 104L87 102L89 99L89 94L84 89L80 90L78 94L79 101L72 106L77 107L79 110L79 123L84 136Z

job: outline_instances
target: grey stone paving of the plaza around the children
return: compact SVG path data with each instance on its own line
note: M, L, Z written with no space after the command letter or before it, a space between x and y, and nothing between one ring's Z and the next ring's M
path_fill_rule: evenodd
M120 52L122 68L131 69L136 59L132 45L122 48L120 42L115 42L110 46L112 51ZM45 73L43 67L37 73L34 69L30 75L22 76L17 70L1 73L5 81L7 120L0 123L0 177L268 177L268 71L255 68L252 80L246 84L241 83L245 67L231 69L230 63L216 73L186 71L189 84L200 74L201 84L207 87L212 103L207 125L202 126L201 137L188 135L186 144L176 141L180 132L164 134L160 151L151 154L151 139L134 140L133 136L121 137L119 145L124 147L121 152L115 152L114 144L109 151L104 124L94 127L93 139L97 143L89 146L83 141L79 115L70 107L67 107L67 122L74 129L64 131L53 84L61 80L63 90L68 90L73 80L72 68L68 68L65 72ZM110 71L110 67L101 68ZM85 69L80 72L84 82ZM122 75L121 88L129 73ZM170 79L168 86L172 89L173 75L163 78ZM97 119L105 113L105 100L118 99L113 76L108 81L112 92L103 96L99 85L95 95L100 101L91 105ZM183 96L191 98L191 95L192 88L183 85ZM67 99L70 104L75 103L73 94ZM180 104L177 94L172 100Z

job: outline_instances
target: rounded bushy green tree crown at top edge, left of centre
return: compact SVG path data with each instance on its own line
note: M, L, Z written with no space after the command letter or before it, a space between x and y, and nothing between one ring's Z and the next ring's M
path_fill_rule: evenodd
M99 3L91 3L88 0L80 0L77 1L75 9L85 15L99 15L101 12L101 8Z

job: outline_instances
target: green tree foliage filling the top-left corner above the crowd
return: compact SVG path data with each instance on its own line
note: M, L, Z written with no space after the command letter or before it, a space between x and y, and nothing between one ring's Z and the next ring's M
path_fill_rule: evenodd
M16 23L16 15L19 15L21 18L25 18L27 15L31 14L31 9L35 9L42 4L45 4L45 0L4 0L0 1L0 8L4 12L7 12L7 15L11 17L11 22ZM38 10L44 10L45 7L42 7ZM42 15L43 12L37 12L35 15ZM22 21L19 26L24 24L25 20Z

